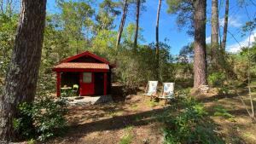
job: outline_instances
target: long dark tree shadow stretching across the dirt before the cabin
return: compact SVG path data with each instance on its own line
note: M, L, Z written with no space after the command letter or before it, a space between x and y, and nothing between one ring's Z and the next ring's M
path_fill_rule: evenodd
M96 131L108 131L108 130L121 130L127 126L139 127L148 125L151 122L155 122L155 115L157 113L164 112L165 108L154 109L147 112L139 112L135 114L128 114L123 116L114 116L113 118L106 118L96 120L85 124L71 124L67 127L67 135L62 135L61 138L68 140L70 143L79 142L79 139ZM98 115L102 117L102 115ZM91 117L91 116L86 116ZM66 141L66 142L68 142ZM108 141L110 142L110 141Z

